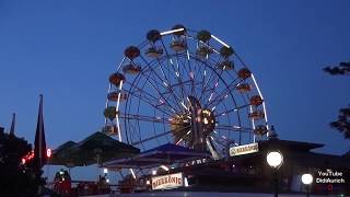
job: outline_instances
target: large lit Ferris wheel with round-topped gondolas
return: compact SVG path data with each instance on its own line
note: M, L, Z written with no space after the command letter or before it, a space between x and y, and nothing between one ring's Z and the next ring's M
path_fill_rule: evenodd
M262 94L231 46L183 25L145 37L109 77L105 134L141 150L172 142L214 158L267 137Z

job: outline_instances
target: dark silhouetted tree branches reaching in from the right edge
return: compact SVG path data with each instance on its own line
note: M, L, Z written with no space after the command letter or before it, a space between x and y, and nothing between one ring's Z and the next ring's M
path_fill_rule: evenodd
M335 67L326 67L324 68L324 71L332 76L348 76L350 74L350 61L340 62L339 66ZM348 107L340 108L338 119L331 121L329 125L331 128L342 132L346 139L350 140L350 105Z

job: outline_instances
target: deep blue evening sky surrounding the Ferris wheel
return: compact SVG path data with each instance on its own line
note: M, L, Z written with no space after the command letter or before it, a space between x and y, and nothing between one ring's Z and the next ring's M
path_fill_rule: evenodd
M323 72L350 60L350 1L0 1L0 125L34 141L44 94L46 140L56 148L101 129L108 76L149 30L209 30L243 57L280 138L350 143L328 123L350 104L349 77Z

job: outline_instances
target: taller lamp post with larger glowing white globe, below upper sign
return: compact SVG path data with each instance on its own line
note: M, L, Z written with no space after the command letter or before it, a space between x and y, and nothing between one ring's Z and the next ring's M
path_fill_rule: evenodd
M278 170L283 163L283 154L279 151L268 152L266 161L273 169L275 197L278 197Z

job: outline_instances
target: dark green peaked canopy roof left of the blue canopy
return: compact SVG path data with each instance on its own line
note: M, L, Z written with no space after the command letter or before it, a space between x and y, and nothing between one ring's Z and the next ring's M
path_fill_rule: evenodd
M122 143L112 137L95 132L75 143L68 141L54 150L50 164L82 166L102 163L110 159L129 158L140 153L138 148Z

